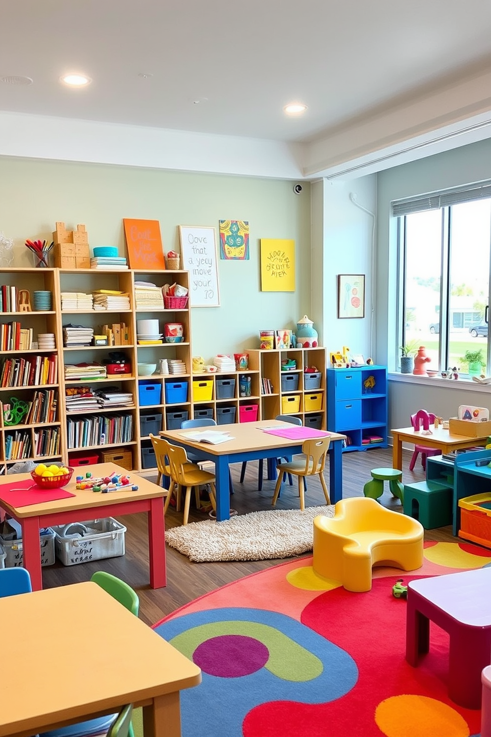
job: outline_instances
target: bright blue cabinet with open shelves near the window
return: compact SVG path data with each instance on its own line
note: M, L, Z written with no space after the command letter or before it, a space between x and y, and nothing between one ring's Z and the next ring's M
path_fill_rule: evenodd
M328 430L343 433L343 450L387 447L387 368L328 368Z

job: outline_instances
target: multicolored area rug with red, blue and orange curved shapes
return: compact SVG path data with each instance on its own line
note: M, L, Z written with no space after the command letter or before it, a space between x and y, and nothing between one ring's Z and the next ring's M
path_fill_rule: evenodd
M392 586L491 565L491 551L427 543L423 567L375 568L372 590L316 576L311 558L192 601L155 630L202 668L181 692L183 737L470 737L481 712L447 694L448 635L431 625L405 660L406 600Z

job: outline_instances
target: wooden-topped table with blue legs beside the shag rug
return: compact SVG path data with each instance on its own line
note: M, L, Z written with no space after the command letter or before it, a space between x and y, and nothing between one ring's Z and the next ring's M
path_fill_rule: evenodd
M209 445L186 438L183 433L191 432L191 430L160 430L160 436L174 445L192 450L193 455L197 455L200 460L212 461L215 464L216 520L222 522L222 520L228 520L230 517L229 464L254 461L257 458L278 458L280 455L302 453L303 440L294 441L264 432L266 428L280 427L292 430L294 426L289 422L265 419L259 422L236 422L231 425L204 428L219 433L230 433L231 439L219 445ZM308 430L308 428L304 429ZM316 432L317 430L314 430L314 433ZM311 437L314 437L314 433ZM335 504L342 498L342 441L346 436L340 433L328 434L331 436L328 451L329 492L331 504Z

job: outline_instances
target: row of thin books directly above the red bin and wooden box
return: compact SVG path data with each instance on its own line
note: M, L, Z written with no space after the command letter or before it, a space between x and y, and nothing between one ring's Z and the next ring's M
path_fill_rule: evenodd
M81 450L93 445L128 443L133 439L133 416L91 415L80 419L68 417L66 431L68 450Z

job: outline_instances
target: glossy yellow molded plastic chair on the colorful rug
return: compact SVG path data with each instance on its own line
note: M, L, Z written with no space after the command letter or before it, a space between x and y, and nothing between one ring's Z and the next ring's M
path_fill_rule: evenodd
M334 517L314 518L313 567L319 576L341 581L347 591L370 591L374 565L420 568L423 525L368 497L342 499Z

